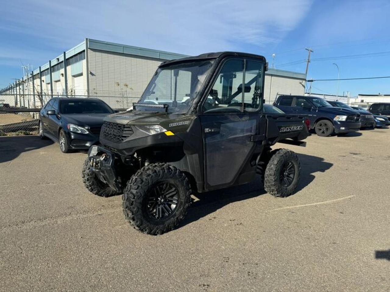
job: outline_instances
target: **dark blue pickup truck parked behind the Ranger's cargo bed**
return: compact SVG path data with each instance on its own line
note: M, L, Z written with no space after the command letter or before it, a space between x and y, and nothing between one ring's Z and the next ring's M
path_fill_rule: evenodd
M333 107L321 97L280 95L274 102L286 114L307 114L310 129L319 136L347 134L360 130L360 114L353 109Z

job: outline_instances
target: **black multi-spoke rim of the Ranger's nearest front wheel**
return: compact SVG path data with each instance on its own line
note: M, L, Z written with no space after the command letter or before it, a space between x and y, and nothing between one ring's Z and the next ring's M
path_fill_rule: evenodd
M146 201L149 218L165 220L172 216L179 202L179 190L171 183L163 182L153 186Z

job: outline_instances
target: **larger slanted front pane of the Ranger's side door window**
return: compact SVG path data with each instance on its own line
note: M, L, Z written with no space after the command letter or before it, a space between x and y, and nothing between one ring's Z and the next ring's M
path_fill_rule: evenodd
M220 73L205 100L202 110L241 111L242 83L244 60L228 60L223 64Z

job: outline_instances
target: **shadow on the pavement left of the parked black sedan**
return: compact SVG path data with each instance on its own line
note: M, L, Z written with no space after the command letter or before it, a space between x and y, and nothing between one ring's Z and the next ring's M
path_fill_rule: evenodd
M36 150L53 144L51 140L42 140L39 136L0 137L0 163L15 159L20 153Z

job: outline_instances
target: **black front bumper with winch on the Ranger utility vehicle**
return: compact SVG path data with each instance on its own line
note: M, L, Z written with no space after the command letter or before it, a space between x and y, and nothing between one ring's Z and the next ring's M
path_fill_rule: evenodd
M100 146L92 146L88 151L88 160L96 176L117 192L122 192L121 179L115 171L116 156Z

